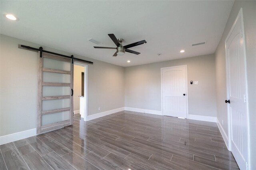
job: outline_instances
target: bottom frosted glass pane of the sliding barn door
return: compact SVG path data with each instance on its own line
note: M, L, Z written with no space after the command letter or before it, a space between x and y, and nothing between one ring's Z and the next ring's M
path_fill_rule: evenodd
M70 111L42 115L42 126L70 119Z

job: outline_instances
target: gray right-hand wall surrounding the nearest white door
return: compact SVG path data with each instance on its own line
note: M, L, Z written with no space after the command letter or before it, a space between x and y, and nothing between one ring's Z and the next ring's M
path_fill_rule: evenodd
M230 12L220 43L216 49L216 90L217 90L217 118L224 121L223 129L228 135L228 118L226 100L226 60L225 39L238 15L243 8L244 31L246 35L246 65L248 76L248 111L249 111L249 141L250 141L250 169L256 169L256 1L235 1Z

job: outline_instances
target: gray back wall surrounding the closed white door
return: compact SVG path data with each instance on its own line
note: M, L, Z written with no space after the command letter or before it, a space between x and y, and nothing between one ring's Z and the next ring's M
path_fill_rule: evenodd
M188 66L188 112L216 117L214 54L125 68L125 106L161 110L160 68ZM199 85L190 84L199 81Z

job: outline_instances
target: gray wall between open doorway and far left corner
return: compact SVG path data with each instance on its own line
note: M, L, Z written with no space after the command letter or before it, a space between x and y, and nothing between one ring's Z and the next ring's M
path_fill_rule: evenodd
M88 115L124 107L124 67L96 64L88 68Z

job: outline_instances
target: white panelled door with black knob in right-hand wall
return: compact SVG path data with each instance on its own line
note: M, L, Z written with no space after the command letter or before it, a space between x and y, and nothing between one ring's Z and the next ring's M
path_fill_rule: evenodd
M246 111L246 72L242 11L226 39L227 92L231 151L242 170L248 161L248 132Z

